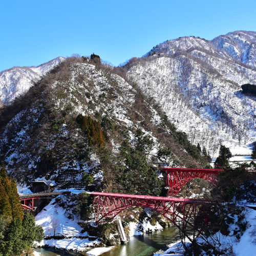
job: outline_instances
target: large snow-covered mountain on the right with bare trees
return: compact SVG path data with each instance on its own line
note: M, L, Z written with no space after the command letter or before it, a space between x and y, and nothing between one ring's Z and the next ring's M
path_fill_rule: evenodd
M153 97L190 141L216 155L220 143L249 153L256 140L256 99L241 85L256 83L256 33L236 31L212 41L167 40L128 63L127 77Z

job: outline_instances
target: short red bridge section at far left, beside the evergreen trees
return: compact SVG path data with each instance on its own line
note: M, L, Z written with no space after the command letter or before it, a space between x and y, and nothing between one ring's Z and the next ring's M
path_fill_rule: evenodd
M22 204L22 207L26 210L34 210L34 200L37 198L44 198L49 196L58 196L61 194L66 193L64 192L51 192L51 191L43 191L35 194L23 194L19 195L19 201Z

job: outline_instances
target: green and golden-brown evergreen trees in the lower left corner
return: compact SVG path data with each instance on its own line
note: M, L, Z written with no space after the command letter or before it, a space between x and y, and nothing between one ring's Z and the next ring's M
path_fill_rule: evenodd
M15 179L9 179L5 166L0 168L0 255L20 255L40 242L44 231L34 217L23 212Z

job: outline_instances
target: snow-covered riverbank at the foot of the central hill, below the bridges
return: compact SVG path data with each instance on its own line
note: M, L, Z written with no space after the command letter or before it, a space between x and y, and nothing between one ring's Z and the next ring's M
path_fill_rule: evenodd
M60 198L62 196L58 196ZM38 247L54 247L57 249L74 250L74 251L88 251L88 255L100 255L101 253L111 250L112 247L99 247L102 245L97 237L90 236L88 232L83 232L79 222L76 218L70 218L69 212L58 206L58 199L53 199L39 214L35 217L37 225L44 229L45 239L40 243L36 243ZM151 216L151 211L145 209L147 216ZM156 225L151 225L149 220L139 222L134 220L129 223L129 237L140 236L143 230L147 229L160 230L162 226L156 222ZM95 248L96 247L96 248Z

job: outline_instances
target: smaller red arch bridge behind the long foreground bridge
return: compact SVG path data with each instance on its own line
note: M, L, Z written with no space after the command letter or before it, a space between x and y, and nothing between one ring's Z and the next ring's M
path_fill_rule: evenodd
M172 168L162 167L166 172L166 187L168 187L168 195L177 195L180 189L190 180L201 178L215 185L219 172L223 169L202 169L202 168Z

